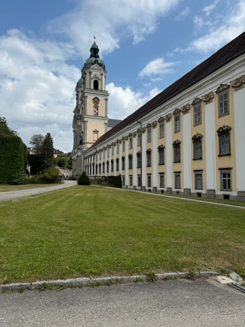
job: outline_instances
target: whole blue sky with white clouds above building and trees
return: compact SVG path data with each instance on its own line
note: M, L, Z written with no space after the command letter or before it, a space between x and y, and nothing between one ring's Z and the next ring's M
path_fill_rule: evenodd
M96 34L124 119L245 30L245 0L2 0L0 116L72 149L75 86Z

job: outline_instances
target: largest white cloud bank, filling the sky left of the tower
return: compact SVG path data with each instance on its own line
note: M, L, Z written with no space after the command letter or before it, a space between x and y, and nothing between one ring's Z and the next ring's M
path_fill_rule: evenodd
M29 145L35 133L51 132L54 146L64 133L72 139L72 108L79 69L65 63L64 43L30 39L17 30L0 37L0 115ZM71 142L62 141L65 151Z

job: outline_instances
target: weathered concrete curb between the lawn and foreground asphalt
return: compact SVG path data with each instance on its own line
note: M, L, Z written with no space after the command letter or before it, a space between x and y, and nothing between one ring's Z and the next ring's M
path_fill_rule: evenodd
M165 272L162 274L155 274L155 280L166 281L168 279L179 278L200 278L216 276L216 271L199 271L199 272ZM98 278L69 278L57 279L56 281L40 281L34 283L12 283L2 284L0 286L0 293L4 292L22 292L24 290L45 290L45 289L59 289L69 287L95 287L102 285L128 284L138 282L151 282L151 278L146 275L133 276L111 276Z

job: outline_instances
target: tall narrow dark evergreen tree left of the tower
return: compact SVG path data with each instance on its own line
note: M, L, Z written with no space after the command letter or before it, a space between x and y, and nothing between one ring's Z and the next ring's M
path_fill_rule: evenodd
M50 133L47 133L43 139L41 149L41 171L45 171L54 165L54 147L53 138Z

